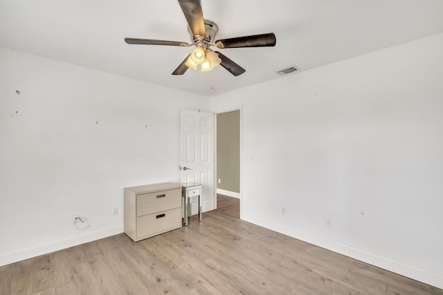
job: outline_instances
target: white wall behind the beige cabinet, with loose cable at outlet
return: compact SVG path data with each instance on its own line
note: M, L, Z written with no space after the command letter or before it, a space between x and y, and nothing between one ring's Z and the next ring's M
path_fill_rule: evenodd
M0 64L0 265L121 233L124 187L180 181L180 109L208 98L5 48Z

